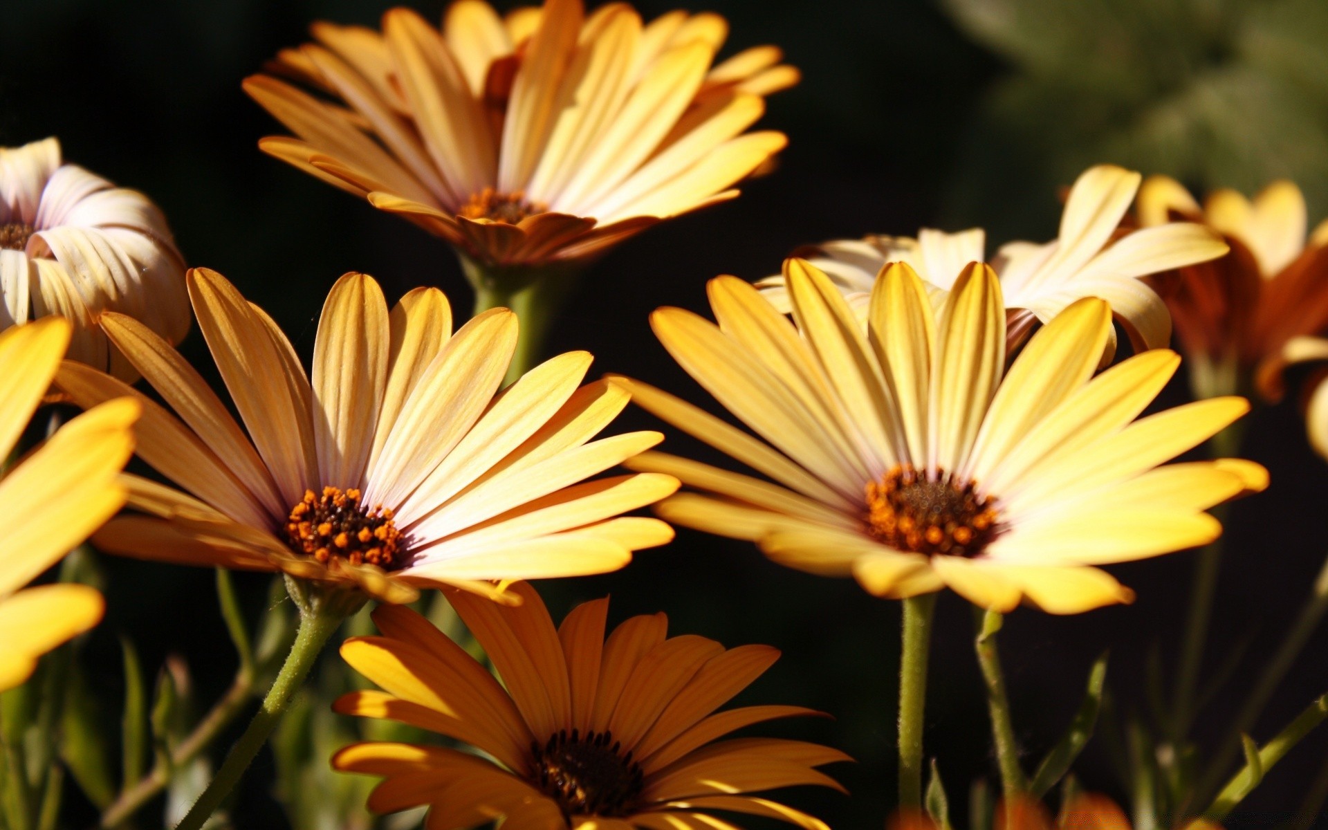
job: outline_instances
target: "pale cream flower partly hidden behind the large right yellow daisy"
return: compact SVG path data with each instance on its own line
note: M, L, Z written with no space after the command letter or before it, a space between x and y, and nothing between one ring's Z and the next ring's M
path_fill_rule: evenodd
M1000 247L992 268L1000 276L1009 309L1011 337L1020 343L1036 320L1048 323L1066 305L1096 296L1112 304L1135 347L1162 348L1171 337L1166 307L1141 276L1220 256L1218 234L1189 223L1166 224L1121 235L1117 228L1139 187L1139 174L1098 165L1085 170L1069 191L1054 242L1011 242ZM947 234L923 228L918 238L866 236L813 247L809 262L823 271L866 325L871 287L891 262L908 263L923 279L938 311L964 266L984 262L985 234L972 228ZM757 283L776 308L791 303L784 275ZM1114 351L1113 344L1109 348Z

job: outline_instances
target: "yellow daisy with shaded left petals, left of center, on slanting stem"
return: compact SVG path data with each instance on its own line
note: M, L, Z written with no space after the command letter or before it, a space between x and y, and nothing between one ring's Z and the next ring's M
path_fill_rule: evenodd
M166 341L106 315L106 335L175 414L76 363L56 382L84 406L142 401L138 456L181 490L126 475L129 506L147 515L110 522L98 546L406 602L414 586L497 595L489 580L611 571L672 538L657 519L615 517L676 479L584 481L661 437L591 441L627 396L578 388L590 355L559 355L495 394L517 341L506 308L453 333L442 292L412 291L389 313L373 279L348 274L323 307L311 382L271 317L219 274L190 271L189 291L248 437Z

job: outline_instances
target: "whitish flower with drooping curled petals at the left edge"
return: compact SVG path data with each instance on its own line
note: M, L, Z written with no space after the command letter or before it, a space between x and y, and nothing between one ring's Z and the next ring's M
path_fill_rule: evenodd
M54 138L0 147L0 329L46 315L74 324L70 360L137 380L97 328L102 311L179 343L185 266L147 197L60 161Z

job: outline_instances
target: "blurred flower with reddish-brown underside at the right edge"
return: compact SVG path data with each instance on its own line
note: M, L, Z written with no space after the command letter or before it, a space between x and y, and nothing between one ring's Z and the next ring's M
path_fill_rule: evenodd
M1145 226L1203 222L1231 246L1222 259L1153 280L1191 361L1195 394L1254 385L1264 397L1282 397L1282 347L1328 328L1328 220L1307 240L1305 201L1291 182L1268 185L1252 202L1216 190L1199 207L1185 187L1161 175L1139 190L1138 214Z

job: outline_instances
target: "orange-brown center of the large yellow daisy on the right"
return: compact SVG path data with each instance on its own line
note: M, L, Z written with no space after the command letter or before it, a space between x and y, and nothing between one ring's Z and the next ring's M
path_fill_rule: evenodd
M902 551L976 556L996 538L996 519L991 497L946 473L928 478L906 463L867 482L866 530Z

